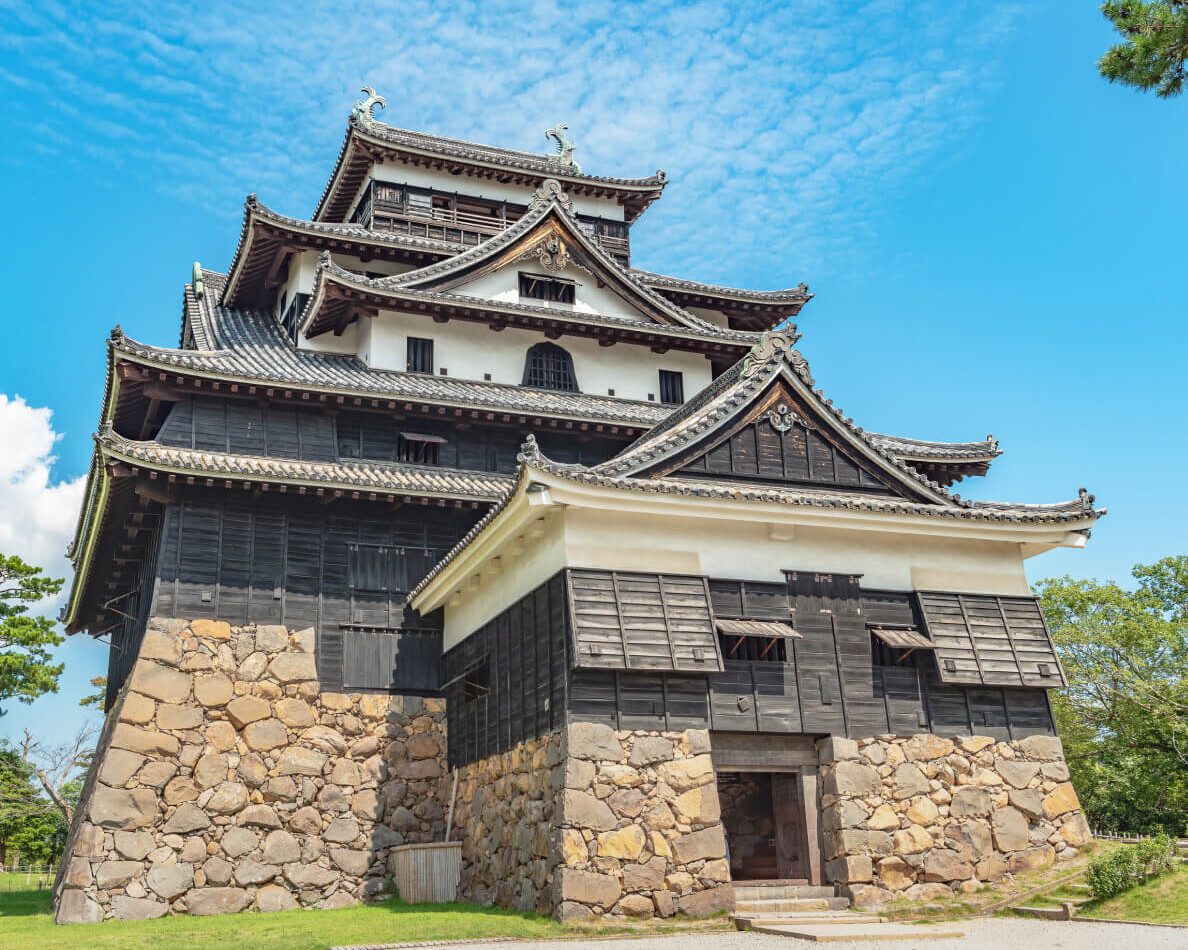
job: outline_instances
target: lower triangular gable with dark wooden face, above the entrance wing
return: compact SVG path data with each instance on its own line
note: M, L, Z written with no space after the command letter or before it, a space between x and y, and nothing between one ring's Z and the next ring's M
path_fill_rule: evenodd
M765 334L745 359L614 458L599 475L694 479L963 504L877 445L813 388L795 328Z

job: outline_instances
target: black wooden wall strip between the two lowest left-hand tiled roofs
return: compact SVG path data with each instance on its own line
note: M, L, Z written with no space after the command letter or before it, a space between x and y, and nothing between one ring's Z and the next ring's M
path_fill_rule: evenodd
M298 410L248 400L198 397L173 405L157 439L203 451L234 452L307 462L362 458L398 461L400 432L444 438L438 464L468 471L516 470L516 455L530 430L501 425L460 428L432 419L397 419L391 413ZM542 450L557 462L595 464L627 438L574 432L538 432Z

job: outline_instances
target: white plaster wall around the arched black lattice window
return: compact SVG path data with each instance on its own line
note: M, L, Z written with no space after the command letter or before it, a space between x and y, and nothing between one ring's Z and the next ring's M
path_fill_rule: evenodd
M529 347L545 340L533 330L507 328L495 332L482 323L450 321L435 323L421 314L380 311L359 337L360 357L377 369L406 367L407 338L419 336L434 341L436 369L444 367L448 375L482 380L491 374L492 382L520 385L524 379L524 359ZM323 335L326 336L326 335ZM322 338L322 337L318 337ZM684 397L690 399L709 385L709 361L695 353L669 350L652 353L649 347L617 343L600 347L596 340L567 336L554 341L574 359L577 386L583 393L607 395L614 390L623 399L646 400L649 393L659 398L659 370L684 374Z

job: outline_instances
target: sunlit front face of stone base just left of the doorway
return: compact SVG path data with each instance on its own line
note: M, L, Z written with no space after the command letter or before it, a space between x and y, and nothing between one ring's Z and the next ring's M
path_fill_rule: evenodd
M563 752L552 778L561 791L558 918L733 906L709 733L580 722L565 730Z

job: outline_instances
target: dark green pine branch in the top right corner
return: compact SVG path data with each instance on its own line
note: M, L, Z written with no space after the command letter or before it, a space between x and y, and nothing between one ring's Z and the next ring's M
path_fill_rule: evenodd
M1159 99L1183 91L1188 57L1188 0L1116 0L1101 12L1125 43L1111 46L1098 61L1110 82L1155 90Z

